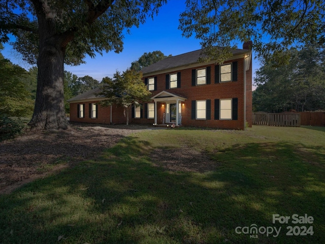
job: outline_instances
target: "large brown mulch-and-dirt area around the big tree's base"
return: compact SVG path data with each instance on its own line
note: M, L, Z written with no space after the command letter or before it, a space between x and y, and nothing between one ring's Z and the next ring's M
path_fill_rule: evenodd
M10 193L75 162L94 159L123 137L148 128L145 125L71 124L70 130L29 132L0 142L0 194Z

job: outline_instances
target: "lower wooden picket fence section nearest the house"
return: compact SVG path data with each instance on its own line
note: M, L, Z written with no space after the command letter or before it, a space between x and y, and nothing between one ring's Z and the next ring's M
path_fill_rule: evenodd
M299 113L253 113L253 125L300 127Z

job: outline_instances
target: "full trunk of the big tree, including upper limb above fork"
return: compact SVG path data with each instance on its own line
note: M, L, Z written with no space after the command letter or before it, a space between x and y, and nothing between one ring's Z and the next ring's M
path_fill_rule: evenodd
M41 7L38 12L37 92L34 114L28 125L31 130L68 129L63 101L63 66L66 46L72 36L56 33L55 12L49 11L46 3Z

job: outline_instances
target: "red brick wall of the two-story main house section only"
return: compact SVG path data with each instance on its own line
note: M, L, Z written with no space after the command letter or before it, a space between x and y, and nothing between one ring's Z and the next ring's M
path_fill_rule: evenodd
M224 129L244 129L244 59L235 59L233 61L238 62L238 77L237 81L214 83L214 65L211 67L211 84L192 86L192 69L179 70L181 72L181 88L172 88L167 91L175 93L179 96L187 98L182 106L182 125L183 126L195 126L195 127L212 127L212 128L224 128ZM226 62L231 63L231 62ZM225 63L225 64L226 64ZM200 66L197 68L205 68L207 66ZM251 125L252 123L252 67L250 66L249 71L246 72L246 121ZM163 73L157 76L157 90L152 93L152 96L166 90L166 74ZM150 76L151 77L151 76ZM144 78L150 78L144 77ZM214 99L231 99L238 98L238 120L214 120ZM191 101L192 100L211 100L211 119L210 120L199 120L191 119ZM158 103L159 104L159 103ZM166 106L166 105L165 105ZM157 123L160 124L163 119L163 113L165 107L162 108L158 105L157 111ZM160 122L161 120L161 122Z

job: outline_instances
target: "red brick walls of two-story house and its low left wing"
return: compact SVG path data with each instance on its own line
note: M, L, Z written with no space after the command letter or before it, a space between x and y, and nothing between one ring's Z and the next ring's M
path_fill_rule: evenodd
M212 127L212 128L223 128L223 129L244 129L244 58L235 59L232 61L238 62L238 77L237 81L214 83L214 65L211 67L211 84L192 86L192 69L179 70L181 72L181 88L168 89L170 93L175 93L179 96L187 98L182 106L182 125L183 126L194 126L194 127ZM226 62L231 63L231 62ZM225 64L226 64L225 63ZM207 66L200 66L197 68L205 68ZM177 71L173 72L177 73ZM152 96L166 90L166 74L163 73L157 76L157 90L152 92ZM150 76L151 77L151 76ZM146 77L144 77L146 78ZM149 78L149 77L148 77ZM214 99L232 99L238 98L238 120L214 120ZM191 119L191 101L192 100L211 100L211 119L199 120ZM96 102L96 101L95 101ZM151 101L153 102L153 101ZM70 120L81 121L88 123L110 123L110 107L103 108L99 105L98 118L89 118L88 109L89 102L85 103L85 117L77 118L77 104L70 104ZM163 107L164 104L164 107ZM157 103L157 123L163 123L163 113L165 112L166 104ZM131 111L129 112L129 123L138 124L153 124L154 119L144 118L144 107L142 118L131 118ZM112 106L112 123L113 124L124 124L126 118L123 114L122 107ZM252 124L252 64L250 69L246 72L246 121L251 126Z

